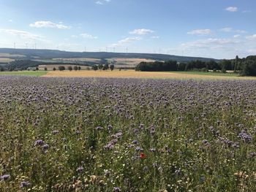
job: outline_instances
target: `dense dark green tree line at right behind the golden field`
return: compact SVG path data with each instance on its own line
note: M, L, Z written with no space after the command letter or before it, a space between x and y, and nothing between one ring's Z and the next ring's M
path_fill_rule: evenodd
M178 72L178 71L200 71L208 72L227 72L233 71L241 75L256 76L256 56L248 56L246 58L223 59L221 61L154 61L154 62L140 62L135 67L136 71L141 72Z

